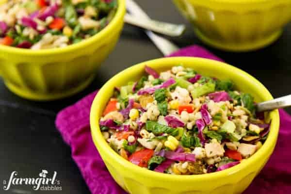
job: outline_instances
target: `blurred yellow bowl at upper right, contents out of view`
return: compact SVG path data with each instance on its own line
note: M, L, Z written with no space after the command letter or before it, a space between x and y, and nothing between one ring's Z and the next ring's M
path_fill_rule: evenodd
M274 42L291 20L291 0L173 0L205 43L247 51Z

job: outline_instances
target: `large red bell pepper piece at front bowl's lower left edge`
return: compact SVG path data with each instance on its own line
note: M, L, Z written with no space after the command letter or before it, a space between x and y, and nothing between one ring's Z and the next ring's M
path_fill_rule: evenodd
M129 161L141 167L147 167L147 162L153 156L154 150L152 149L142 149L134 152L129 156Z

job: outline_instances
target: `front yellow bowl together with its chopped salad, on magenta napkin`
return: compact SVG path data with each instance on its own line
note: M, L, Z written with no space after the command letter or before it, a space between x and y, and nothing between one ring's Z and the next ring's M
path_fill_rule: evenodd
M200 78L201 81L196 82L198 85L196 83L194 83L196 85L191 83L191 85L193 84L194 88L196 88L191 89L191 94L187 90L188 87L186 89L186 85L183 85L185 79L180 82L176 80L176 76L172 78L172 68L181 68L177 67L177 65L182 66L183 71L186 72L186 74L178 73L181 74L180 76L185 76L187 74L191 74L191 78L195 78L197 74L202 76L202 79ZM152 76L155 79L152 79L150 76L149 81L148 74L145 72L146 66L154 69L154 71L150 72L158 72L159 75L153 73ZM148 70L149 68L147 68L146 71L149 72ZM169 70L170 72L168 72ZM163 77L164 73L162 72L167 72L165 74L168 76ZM193 77L194 74L195 76ZM175 75L177 75L177 73ZM139 82L143 76L145 76L145 85L140 85ZM162 81L157 79L161 79ZM228 84L228 80L230 80L234 86L233 88L230 87L231 89L229 91L227 90L231 84ZM190 82L189 78L186 78L186 81ZM215 82L215 87L210 86L213 84L212 81ZM219 81L225 82L226 84L223 85L227 87L224 86L224 88L220 89L216 88L216 84ZM177 82L180 86L175 86ZM147 84L150 85L146 86ZM169 90L169 87L173 86L173 84L175 89ZM207 90L204 90L206 89L206 87L203 86L205 84L208 88ZM203 90L198 89L201 87L205 88ZM132 92L132 88L136 88L135 92ZM165 90L160 90L164 88ZM198 97L201 107L200 105L191 106L192 108L188 106L180 107L179 113L179 108L176 109L177 107L175 107L177 104L172 104L170 102L173 100L180 101L181 99L173 99L175 95L172 97L171 94L178 92L179 95L177 97L180 97L184 94L184 92L181 92L185 91L184 89L187 90L191 98L185 98L186 101L188 100L187 103L190 102L190 104L194 104L193 99L197 98L195 95L199 95L201 100L205 97L205 101L203 102L200 101ZM156 91L158 92L156 93ZM220 95L217 95L217 92L219 92ZM137 95L137 93L140 95ZM130 97L128 101L123 99L124 94ZM163 94L166 95L166 98ZM139 96L144 95L146 95L146 97L140 99ZM230 97L232 100L223 101L226 97ZM252 97L254 98L252 99ZM275 110L270 113L265 113L265 119L262 119L261 115L255 118L255 114L252 114L254 113L252 108L254 101L261 102L272 98L268 90L255 78L225 63L194 57L171 57L151 60L125 69L115 75L111 80L107 81L99 90L93 101L90 112L92 138L114 180L130 194L242 193L268 161L275 147L279 130L278 111ZM220 102L215 102L218 99L220 99ZM144 102L148 100L151 102L145 103L145 105ZM155 104L156 102L154 101L157 101L157 104ZM184 101L184 99L182 101ZM226 105L225 110L221 107L218 108L221 115L216 113L212 114L211 111L216 110L216 108L214 108L216 105L222 105L227 103L227 101L229 101L230 107ZM137 103L139 103L140 106ZM150 107L146 107L147 104L149 104ZM162 106L163 104L166 106ZM207 104L207 107L205 107L205 104ZM231 107L231 104L234 106ZM175 109L171 109L171 105ZM214 107L212 107L212 105ZM132 107L137 111L131 111ZM159 107L161 110L159 110ZM163 107L167 107L167 109ZM197 107L200 113L196 112L196 115L194 111L197 110ZM222 113L221 109L222 111L230 110L230 112L227 111L227 113L232 115L225 115L224 113L226 112ZM166 110L166 112L163 112L163 110ZM188 111L194 113L194 116L197 116L197 120L201 119L200 124L202 127L199 126L199 122L196 121L195 124L193 123L194 125L191 126L190 117L192 117L193 114ZM210 114L211 119L207 112ZM189 118L187 116L181 117L181 113L191 116L189 116ZM162 117L161 114L164 114L162 115L163 119L159 120L158 118ZM201 114L201 117L198 114ZM202 117L202 115L204 116ZM172 116L175 118L172 118ZM227 120L225 116L227 116ZM248 122L246 122L247 127L244 128L245 130L241 130L242 133L240 134L236 129L237 121L243 123L242 120L245 119L246 116L248 117ZM133 120L134 117L136 118L135 123L137 123L137 126L133 122L129 122L129 120ZM144 117L146 118L145 120L143 120ZM156 117L157 120L155 120ZM260 121L257 120L258 118ZM218 125L216 120L220 119L221 124ZM222 122L222 120L224 120L224 122ZM270 121L272 122L270 123ZM139 125L141 122L145 123L142 128L140 127L142 125ZM259 122L270 124L269 130L267 130L267 128L266 130L262 130L265 126L259 126ZM190 123L189 126L188 123ZM224 126L225 123L226 125ZM251 127L250 123L254 126ZM235 125L235 129L233 124ZM184 125L184 127L181 127L182 125ZM205 125L205 127L203 127L203 125ZM258 126L259 128L257 128ZM132 127L137 129L130 129ZM139 128L141 130L136 134ZM203 130L201 130L202 128ZM118 129L118 131L116 129ZM140 132L142 129L144 130L141 134ZM265 132L268 131L266 139L266 136L261 130ZM245 133L248 134L246 135ZM259 136L259 138L252 136ZM232 139L234 137L238 138L239 141ZM249 137L254 138L254 142L251 142L253 140L248 139ZM243 140L243 138L245 139ZM145 139L146 141L144 141ZM261 142L262 145L255 141ZM159 143L162 144L161 150L155 151ZM226 143L230 144L226 145ZM244 146L246 146L247 149L244 149ZM121 151L121 148L124 150ZM195 150L195 148L198 149ZM205 149L205 152L202 151L203 149ZM207 151L209 152L207 153ZM130 152L132 152L132 154ZM221 155L219 156L221 161L215 161L220 160L219 157L212 157L211 154ZM205 155L206 157L204 158ZM199 157L204 159L201 160ZM213 160L210 159L208 161L208 158L212 158ZM184 164L185 162L188 162L188 164ZM213 165L211 165L212 162ZM186 169L183 168L186 165ZM186 170L188 172L185 172ZM205 170L209 170L209 173L207 173L207 171L205 172Z

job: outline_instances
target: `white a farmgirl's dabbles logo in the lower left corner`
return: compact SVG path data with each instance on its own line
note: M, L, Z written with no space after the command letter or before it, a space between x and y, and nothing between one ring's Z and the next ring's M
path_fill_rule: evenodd
M61 182L56 179L57 172L54 172L52 177L48 175L47 170L42 170L37 178L22 178L16 171L13 171L9 180L3 180L3 189L7 191L14 185L32 185L32 189L35 191L62 191Z

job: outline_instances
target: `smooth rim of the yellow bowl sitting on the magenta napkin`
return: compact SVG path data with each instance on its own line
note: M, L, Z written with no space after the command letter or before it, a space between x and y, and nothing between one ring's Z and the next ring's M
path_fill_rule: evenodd
M98 112L102 112L103 107L98 106L98 102L103 100L103 94L106 93L107 87L111 87L111 82L115 82L119 80L118 77L122 75L122 77L126 77L126 75L132 74L132 72L137 71L140 69L139 67L148 65L151 67L158 66L157 64L173 64L173 63L182 63L183 61L189 61L189 62L197 62L197 63L203 63L211 66L220 66L221 68L224 69L230 69L233 71L235 74L239 74L241 77L244 78L244 80L248 80L248 82L252 82L252 84L257 87L259 90L261 90L261 96L266 96L268 99L273 99L272 95L270 92L267 90L267 88L260 83L256 78L253 76L249 75L248 73L242 71L241 69L234 67L232 65L228 65L223 62L218 62L210 59L205 59L205 58L198 58L198 57L170 57L170 58L160 58L160 59L154 59L150 61L146 61L137 65L133 65L120 73L116 74L113 78L111 78L109 81L107 81L103 87L99 90L98 94L94 98L94 101L91 106L90 110L90 126L91 126L91 134L92 138L94 141L94 144L98 149L102 149L102 153L106 153L106 157L108 157L108 160L114 160L119 163L119 165L123 166L124 168L128 169L129 172L135 172L139 175L142 175L144 177L151 177L151 178L167 178L167 180L171 181L194 181L194 180L208 180L208 179L216 179L216 178L222 178L229 176L231 174L234 174L238 171L241 171L243 169L246 169L248 166L260 162L261 158L264 158L264 156L268 156L269 153L268 151L273 151L272 150L272 145L275 145L278 131L279 131L279 112L278 110L272 111L272 126L268 135L267 140L263 144L263 146L249 159L245 160L244 162L241 162L240 164L228 168L223 171L219 172L214 172L210 174L203 174L203 175L189 175L189 176L183 176L183 175L169 175L169 174L163 174L163 173L158 173L155 171L147 170L144 168L141 168L137 165L132 164L131 162L125 160L122 158L119 154L117 154L110 146L109 144L105 141L103 138L101 132L98 130L99 129L99 124L98 124ZM154 64L154 65L152 65ZM101 110L100 110L101 109ZM102 155L101 155L102 156Z

